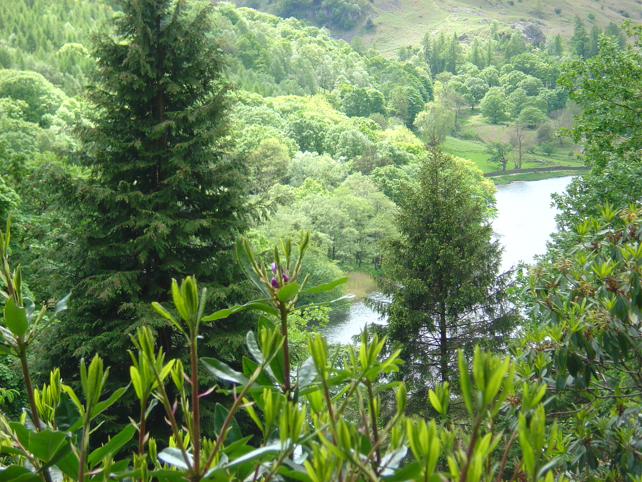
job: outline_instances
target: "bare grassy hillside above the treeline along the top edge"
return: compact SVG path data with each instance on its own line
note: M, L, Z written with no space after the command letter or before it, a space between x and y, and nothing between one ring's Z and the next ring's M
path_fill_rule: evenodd
M635 22L642 16L641 0L575 0L564 4L551 0L370 0L361 4L359 12L344 13L354 17L351 22L354 26L346 30L336 22L324 21L318 12L311 18L311 9L316 2L298 2L297 9L284 6L291 3L290 0L270 4L243 0L238 5L276 14L288 12L323 24L334 37L347 41L358 35L365 46L375 45L386 57L394 55L402 46L419 45L427 31L456 31L462 39L473 36L486 39L494 21L498 22L499 32L510 30L515 22L529 21L537 24L546 37L558 33L571 37L575 15L584 20L588 30L593 24L604 29L609 22L619 25L627 18Z

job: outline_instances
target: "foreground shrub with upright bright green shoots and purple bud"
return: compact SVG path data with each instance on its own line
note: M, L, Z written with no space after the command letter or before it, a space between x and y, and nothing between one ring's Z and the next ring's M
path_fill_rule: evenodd
M101 400L109 370L98 355L88 367L84 361L80 364L80 397L54 370L49 384L30 397L39 400L32 405L35 427L24 417L17 422L0 415L0 451L10 456L0 462L4 476L34 482L62 478L80 482L103 473L144 482L186 478L267 482L277 474L302 482L343 476L364 482L382 478L463 482L504 478L512 471L532 482L553 481L559 461L556 451L563 439L556 429L544 433L544 387L518 386L516 367L508 357L499 359L475 348L469 370L463 353L458 352L461 399L469 421L462 425L452 418L447 382L429 392L430 403L444 418L443 423L405 415L408 398L403 382L376 383L394 375L403 363L398 351L385 354L386 340L377 335L370 339L362 335L360 345L349 346L343 357L336 358L317 334L308 337L309 356L301 363L293 362L289 317L318 308L302 305L299 298L331 291L347 280L309 285L308 276L301 271L307 246L306 234L297 245L290 239L282 240L281 249L273 249L270 269L257 263L246 240L239 241L239 264L262 299L207 316L206 290L199 291L193 277L180 283L172 280L171 313L159 303L153 303L153 308L182 333L189 347L189 367L177 359L166 362L150 328L139 328L132 335L135 352L130 352L130 377L141 411L132 414L130 425L96 448L90 439L99 427L92 431L92 420L114 404L127 387ZM256 332L247 334L242 367L237 370L211 357L199 360L199 327L243 310L262 315ZM6 306L4 312L4 324L10 326L13 321ZM180 317L172 314L176 312ZM232 395L231 406L216 406L214 431L207 436L200 427L200 406L209 391L199 391L199 361L221 382L233 386L221 390ZM174 404L174 397L168 395L170 387L177 394ZM153 401L148 404L148 399ZM161 451L160 441L149 437L145 424L157 404L171 433L168 443L162 441L166 447ZM258 436L243 436L235 420L241 410L256 424ZM498 444L503 433L496 428L500 411L510 422L510 438L501 448ZM118 455L135 433L139 435L137 452ZM519 454L513 460L509 453L516 440ZM295 458L300 449L307 456ZM501 463L494 462L496 452ZM563 477L558 480L567 482Z

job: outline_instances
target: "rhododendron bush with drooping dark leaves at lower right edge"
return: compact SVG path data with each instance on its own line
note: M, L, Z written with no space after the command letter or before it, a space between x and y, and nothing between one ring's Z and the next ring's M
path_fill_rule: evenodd
M571 480L638 479L642 432L639 205L577 220L531 270L519 373L545 381ZM557 413L557 414L555 414Z

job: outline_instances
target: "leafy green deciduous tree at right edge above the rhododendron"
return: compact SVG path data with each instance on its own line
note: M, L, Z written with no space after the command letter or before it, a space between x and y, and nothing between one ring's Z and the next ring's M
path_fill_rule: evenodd
M575 224L573 215L598 215L609 202L623 208L639 199L642 190L641 101L637 94L642 76L642 30L629 30L633 42L621 49L616 39L604 38L597 57L571 63L560 79L583 112L573 129L565 130L582 141L582 160L590 170L557 199L561 226Z

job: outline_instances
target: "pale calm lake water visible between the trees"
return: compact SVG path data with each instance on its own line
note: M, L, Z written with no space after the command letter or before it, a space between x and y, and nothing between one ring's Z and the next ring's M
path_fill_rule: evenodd
M497 186L498 217L492 226L504 246L501 266L509 269L520 261L532 262L535 254L546 251L550 233L555 231L555 210L551 194L563 192L572 177L554 177L541 181L516 181ZM381 293L370 298L381 299ZM379 314L362 301L352 303L349 312L333 316L323 333L329 343L351 343L366 323L385 324Z

